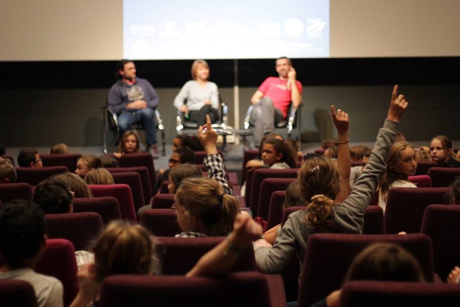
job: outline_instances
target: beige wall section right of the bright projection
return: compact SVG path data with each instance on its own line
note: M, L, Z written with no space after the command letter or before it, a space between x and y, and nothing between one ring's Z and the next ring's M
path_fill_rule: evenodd
M458 56L458 0L331 0L331 57Z

